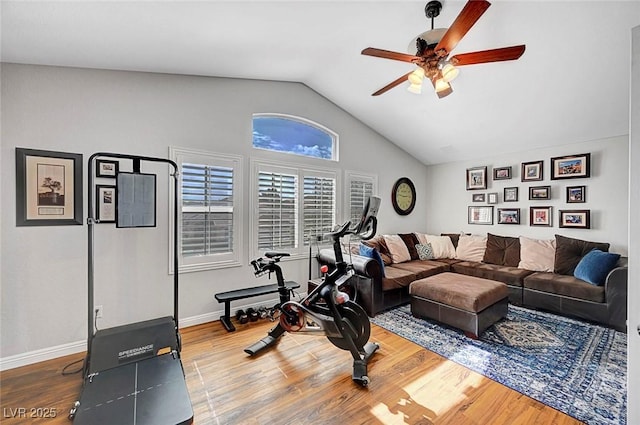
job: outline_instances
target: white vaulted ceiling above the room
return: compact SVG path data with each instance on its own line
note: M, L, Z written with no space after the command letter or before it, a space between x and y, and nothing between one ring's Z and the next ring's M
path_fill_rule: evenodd
M302 82L425 164L629 133L640 1L495 0L452 54L526 44L519 60L461 67L444 99L372 97L414 65L361 50L407 52L426 2L3 0L2 61ZM436 28L465 2L443 4Z

